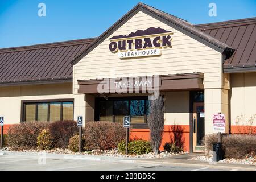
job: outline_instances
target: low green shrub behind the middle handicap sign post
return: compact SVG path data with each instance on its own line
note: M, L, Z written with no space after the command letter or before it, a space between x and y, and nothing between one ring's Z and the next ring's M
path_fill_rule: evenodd
M118 151L125 153L125 141L118 143ZM144 140L134 140L128 143L129 154L147 154L152 152L150 142Z

